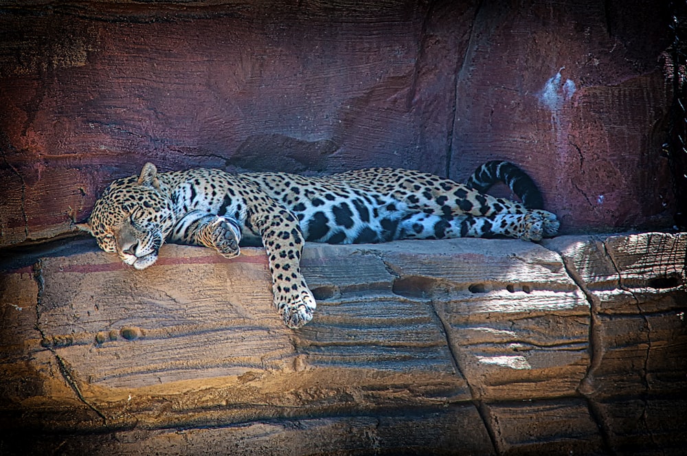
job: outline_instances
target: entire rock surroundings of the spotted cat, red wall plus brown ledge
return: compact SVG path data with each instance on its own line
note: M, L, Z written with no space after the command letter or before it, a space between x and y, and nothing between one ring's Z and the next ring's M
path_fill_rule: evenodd
M260 249L25 246L146 161L509 159L563 233L664 229L654 3L4 1L0 454L684 453L684 236L309 245L299 331Z

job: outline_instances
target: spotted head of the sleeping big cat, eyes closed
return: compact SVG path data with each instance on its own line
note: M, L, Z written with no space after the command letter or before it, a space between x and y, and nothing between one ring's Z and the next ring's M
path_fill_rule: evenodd
M77 227L89 231L104 251L146 269L157 261L175 222L172 201L160 190L157 168L146 163L139 176L113 181L95 202L89 221Z

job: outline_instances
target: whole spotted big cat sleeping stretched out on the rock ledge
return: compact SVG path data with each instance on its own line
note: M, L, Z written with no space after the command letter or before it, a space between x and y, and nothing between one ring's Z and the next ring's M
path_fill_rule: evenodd
M484 191L508 184L522 203ZM466 185L391 168L321 177L284 172L230 174L192 169L113 181L87 223L106 252L135 269L155 263L163 242L210 247L233 258L240 245L264 245L275 307L289 328L313 318L315 298L300 270L305 241L351 244L401 239L552 237L559 221L542 210L532 179L506 161L477 168Z

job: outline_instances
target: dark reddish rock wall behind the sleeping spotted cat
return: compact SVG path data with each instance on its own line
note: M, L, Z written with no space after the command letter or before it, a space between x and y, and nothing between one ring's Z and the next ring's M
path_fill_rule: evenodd
M672 225L662 2L4 4L1 245L145 161L462 181L504 158L564 232Z

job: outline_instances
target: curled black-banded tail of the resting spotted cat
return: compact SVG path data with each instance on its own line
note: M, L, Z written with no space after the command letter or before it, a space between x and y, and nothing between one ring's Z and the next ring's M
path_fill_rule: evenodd
M503 182L520 198L528 209L543 209L544 198L523 170L509 161L487 161L473 172L466 185L480 192L486 192L495 183Z

